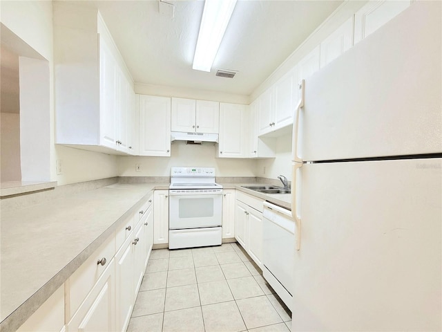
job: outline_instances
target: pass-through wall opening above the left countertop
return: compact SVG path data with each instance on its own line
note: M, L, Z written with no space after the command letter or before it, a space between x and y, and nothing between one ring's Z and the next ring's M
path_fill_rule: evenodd
M49 62L0 24L1 183L50 181Z

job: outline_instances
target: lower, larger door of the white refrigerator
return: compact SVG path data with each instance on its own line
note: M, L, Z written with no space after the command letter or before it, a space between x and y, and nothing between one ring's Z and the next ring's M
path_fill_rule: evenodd
M298 173L291 331L442 331L442 158Z

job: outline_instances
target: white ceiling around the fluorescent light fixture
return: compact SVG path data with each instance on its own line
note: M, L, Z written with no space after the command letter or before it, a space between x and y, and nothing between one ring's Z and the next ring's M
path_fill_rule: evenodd
M97 6L135 81L250 95L343 1L239 0L211 73L192 69L204 1L88 1ZM238 71L216 77L217 68Z

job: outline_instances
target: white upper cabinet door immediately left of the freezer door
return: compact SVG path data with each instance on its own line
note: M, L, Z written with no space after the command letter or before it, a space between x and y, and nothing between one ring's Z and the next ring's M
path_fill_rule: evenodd
M273 86L275 109L273 130L293 124L297 100L295 80L295 71L292 70Z

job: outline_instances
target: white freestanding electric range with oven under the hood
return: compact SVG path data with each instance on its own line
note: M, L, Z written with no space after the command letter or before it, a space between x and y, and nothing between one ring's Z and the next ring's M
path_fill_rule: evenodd
M213 167L172 167L169 249L218 246L222 241L222 185Z

